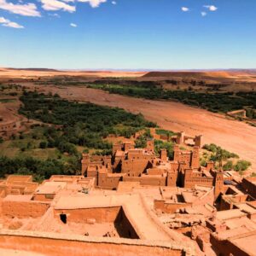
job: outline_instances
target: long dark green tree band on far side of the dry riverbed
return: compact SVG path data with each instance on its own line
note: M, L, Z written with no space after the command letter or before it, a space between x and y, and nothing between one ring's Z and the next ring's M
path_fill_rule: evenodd
M191 90L164 90L156 84L120 85L120 84L89 84L88 87L107 90L110 93L143 97L147 99L177 100L191 106L206 108L212 112L227 113L232 110L252 106L256 109L256 92L218 92L204 93Z

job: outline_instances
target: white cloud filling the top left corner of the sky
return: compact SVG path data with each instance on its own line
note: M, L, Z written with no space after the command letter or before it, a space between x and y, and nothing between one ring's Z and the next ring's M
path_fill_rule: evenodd
M7 0L0 0L0 9L4 9L15 15L40 17L40 13L34 3L9 3Z

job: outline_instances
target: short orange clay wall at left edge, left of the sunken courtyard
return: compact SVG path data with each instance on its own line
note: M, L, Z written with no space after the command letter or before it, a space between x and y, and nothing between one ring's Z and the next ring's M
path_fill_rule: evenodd
M38 218L49 208L48 203L40 201L3 201L3 215L11 218Z

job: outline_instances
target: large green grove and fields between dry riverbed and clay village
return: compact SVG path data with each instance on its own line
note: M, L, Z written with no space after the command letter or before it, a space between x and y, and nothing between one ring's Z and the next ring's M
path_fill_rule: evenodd
M36 180L52 174L75 174L81 153L110 154L109 134L131 137L137 131L155 127L142 114L90 103L68 102L58 95L24 92L19 113L41 121L29 133L1 141L0 177L32 174ZM146 133L145 132L145 133ZM31 157L33 156L33 158Z

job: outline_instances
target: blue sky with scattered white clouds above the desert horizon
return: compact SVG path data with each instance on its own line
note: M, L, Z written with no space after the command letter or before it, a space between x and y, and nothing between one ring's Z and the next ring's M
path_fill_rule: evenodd
M255 0L0 0L0 67L256 68Z

